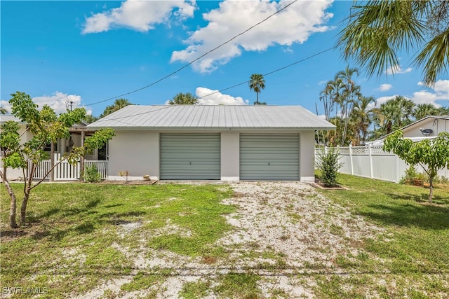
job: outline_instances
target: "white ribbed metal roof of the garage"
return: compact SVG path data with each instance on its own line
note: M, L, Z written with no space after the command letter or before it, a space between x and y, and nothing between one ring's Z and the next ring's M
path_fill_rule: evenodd
M335 126L301 106L126 106L91 128L279 128L333 130Z

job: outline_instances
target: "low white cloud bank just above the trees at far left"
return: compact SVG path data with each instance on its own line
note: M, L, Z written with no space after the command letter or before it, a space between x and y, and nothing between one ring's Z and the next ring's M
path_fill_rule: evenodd
M72 109L84 107L88 114L92 114L92 110L86 106L81 105L81 96L68 95L67 93L55 92L51 96L33 97L34 104L38 104L38 109L41 109L43 105L48 105L55 111L56 114L64 113L67 109L70 109L70 102L72 102ZM11 113L11 104L7 101L1 101L1 106Z

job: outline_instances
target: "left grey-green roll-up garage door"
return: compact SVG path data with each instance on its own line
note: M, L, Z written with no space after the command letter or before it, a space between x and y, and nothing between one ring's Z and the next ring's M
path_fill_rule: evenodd
M220 179L220 134L161 134L161 179Z

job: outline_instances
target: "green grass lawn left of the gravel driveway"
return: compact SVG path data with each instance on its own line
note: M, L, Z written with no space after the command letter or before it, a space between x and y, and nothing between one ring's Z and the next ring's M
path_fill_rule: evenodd
M22 184L13 187L20 198ZM149 247L187 256L220 255L222 249L209 245L230 228L222 215L234 207L220 204L230 196L232 190L216 185L42 184L29 201L29 225L11 230L6 228L9 197L2 184L1 286L46 288L44 298L85 293L102 280L133 271L114 243L137 246L139 234L152 236L168 221L191 235L148 237ZM140 223L140 227L117 237L120 225L126 223ZM142 282L136 277L123 288L130 290Z

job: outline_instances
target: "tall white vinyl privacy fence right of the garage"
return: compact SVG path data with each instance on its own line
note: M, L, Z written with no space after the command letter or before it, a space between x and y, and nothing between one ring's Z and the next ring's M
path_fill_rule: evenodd
M340 172L363 176L382 181L393 181L398 183L405 175L408 165L393 153L382 150L382 146L349 146L339 147L340 162L343 163ZM326 153L328 148L315 148L315 158ZM421 167L416 167L417 172L424 172ZM439 176L449 178L448 169L438 172Z

